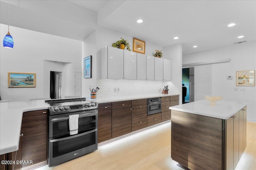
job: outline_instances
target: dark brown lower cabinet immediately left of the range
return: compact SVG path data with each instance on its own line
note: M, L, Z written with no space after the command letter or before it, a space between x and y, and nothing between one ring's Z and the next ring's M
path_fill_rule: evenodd
M48 110L23 113L21 125L22 160L32 160L33 165L47 160ZM19 149L19 150L20 150ZM22 168L31 164L22 164Z

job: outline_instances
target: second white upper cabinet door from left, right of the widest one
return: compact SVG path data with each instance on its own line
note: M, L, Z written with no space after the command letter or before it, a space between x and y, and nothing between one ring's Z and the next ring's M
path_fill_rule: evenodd
M137 79L137 53L124 50L124 79Z

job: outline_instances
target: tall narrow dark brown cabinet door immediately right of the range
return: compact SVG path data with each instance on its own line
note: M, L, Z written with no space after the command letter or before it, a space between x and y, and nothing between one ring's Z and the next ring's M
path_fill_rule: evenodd
M98 143L112 137L112 103L98 106Z

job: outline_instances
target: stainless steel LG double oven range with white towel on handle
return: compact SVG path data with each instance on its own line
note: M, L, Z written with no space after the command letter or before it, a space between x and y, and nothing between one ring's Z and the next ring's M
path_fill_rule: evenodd
M46 100L49 106L48 166L98 149L98 103L86 98ZM70 135L69 115L79 115L78 133Z

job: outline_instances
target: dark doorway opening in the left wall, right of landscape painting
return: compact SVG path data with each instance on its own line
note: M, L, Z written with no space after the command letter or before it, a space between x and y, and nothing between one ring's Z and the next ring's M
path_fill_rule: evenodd
M62 72L50 71L50 98L61 98L61 74Z

